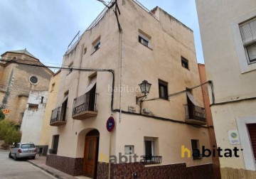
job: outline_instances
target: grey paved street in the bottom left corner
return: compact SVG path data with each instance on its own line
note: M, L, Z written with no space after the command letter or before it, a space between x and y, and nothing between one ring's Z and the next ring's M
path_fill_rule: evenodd
M54 178L52 175L28 163L26 159L14 161L14 159L8 157L8 154L9 152L0 151L0 178Z

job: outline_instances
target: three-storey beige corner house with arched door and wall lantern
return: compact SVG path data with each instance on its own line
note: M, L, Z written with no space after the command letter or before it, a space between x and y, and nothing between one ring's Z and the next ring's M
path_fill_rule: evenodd
M111 156L112 177L211 178L212 159L189 155L210 148L193 31L159 7L114 2L63 57L46 164L107 178Z

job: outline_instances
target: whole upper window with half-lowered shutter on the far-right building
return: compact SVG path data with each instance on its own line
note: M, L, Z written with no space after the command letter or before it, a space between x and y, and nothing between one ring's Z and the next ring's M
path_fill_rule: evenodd
M248 63L256 62L256 17L240 24L242 43Z

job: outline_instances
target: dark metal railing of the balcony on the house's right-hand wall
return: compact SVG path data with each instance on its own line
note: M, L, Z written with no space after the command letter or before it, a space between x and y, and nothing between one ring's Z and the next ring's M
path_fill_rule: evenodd
M196 119L206 122L206 110L203 107L197 107L193 104L184 104L186 119Z

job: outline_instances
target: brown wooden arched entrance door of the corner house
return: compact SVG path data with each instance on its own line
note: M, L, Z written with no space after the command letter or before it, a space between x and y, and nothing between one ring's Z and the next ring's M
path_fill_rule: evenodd
M100 133L96 129L89 131L85 136L85 152L82 172L90 178L97 178L97 161L99 153Z

